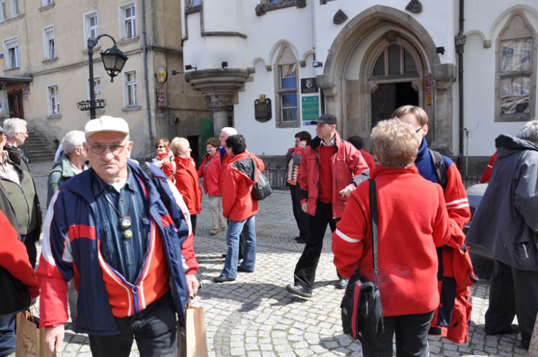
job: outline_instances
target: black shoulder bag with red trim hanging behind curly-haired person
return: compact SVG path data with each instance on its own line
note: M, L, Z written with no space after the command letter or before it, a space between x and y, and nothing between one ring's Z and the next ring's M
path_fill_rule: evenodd
M375 180L369 181L374 281L363 278L357 268L348 282L340 305L343 333L360 342L375 339L383 333L383 307L377 284L377 194Z

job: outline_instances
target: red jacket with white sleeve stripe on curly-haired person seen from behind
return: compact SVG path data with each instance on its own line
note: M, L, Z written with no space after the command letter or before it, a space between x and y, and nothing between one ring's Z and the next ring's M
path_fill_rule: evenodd
M383 316L428 313L439 306L437 252L450 238L441 186L415 166L372 173L377 185L379 291ZM368 182L352 192L332 233L335 265L350 277L359 267L373 281Z

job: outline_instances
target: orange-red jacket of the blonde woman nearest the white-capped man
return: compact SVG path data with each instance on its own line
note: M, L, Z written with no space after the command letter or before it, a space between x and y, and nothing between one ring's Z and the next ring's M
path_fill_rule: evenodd
M183 159L174 155L176 162L176 187L183 195L183 201L189 209L191 215L197 215L201 211L201 189L198 183L199 178L196 173L195 160L192 157Z

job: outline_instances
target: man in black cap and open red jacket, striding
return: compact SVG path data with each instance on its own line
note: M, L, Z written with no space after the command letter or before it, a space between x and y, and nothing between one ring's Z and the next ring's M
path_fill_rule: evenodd
M310 237L295 266L295 282L286 287L289 293L304 298L312 296L327 224L335 231L348 196L359 183L368 180L369 174L361 153L337 133L334 115L323 114L312 123L317 124L317 137L303 153L297 180L297 198L301 209L308 213ZM337 288L345 289L347 285L348 280L339 276Z

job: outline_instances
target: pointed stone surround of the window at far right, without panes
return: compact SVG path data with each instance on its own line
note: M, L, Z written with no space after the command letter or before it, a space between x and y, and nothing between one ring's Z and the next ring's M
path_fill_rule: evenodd
M531 61L530 72L522 73L524 75L530 75L530 93L529 93L529 113L515 113L515 114L501 114L501 79L502 77L514 77L521 73L501 73L501 56L502 56L502 37L504 33L510 28L510 23L514 17L519 16L524 21L526 28L532 32L532 41L531 41ZM528 37L527 37L528 38ZM532 27L528 21L525 13L521 9L513 10L510 13L510 16L506 20L501 32L495 40L495 122L527 122L530 119L533 119L536 115L536 77L537 73L532 72L536 71L537 68L537 55L538 55L538 35L535 28Z

